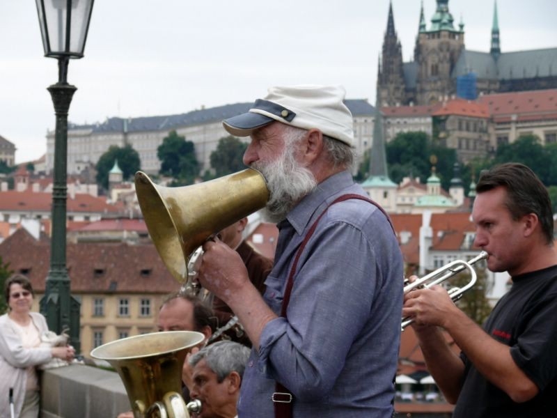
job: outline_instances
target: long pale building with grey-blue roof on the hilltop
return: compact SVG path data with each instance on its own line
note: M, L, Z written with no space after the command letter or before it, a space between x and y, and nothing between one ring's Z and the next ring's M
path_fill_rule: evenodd
M371 147L374 107L365 99L347 99L352 112L354 148L358 155ZM200 173L210 170L211 153L217 149L219 139L228 137L223 119L245 113L251 103L225 104L198 109L186 114L146 116L139 118L109 118L94 125L68 124L68 173L79 174L91 169L111 146L132 146L139 153L141 170L152 175L159 173L161 162L157 148L169 132L185 137L195 145ZM249 138L241 138L249 141ZM358 161L359 162L359 161ZM54 132L47 134L46 170L54 167ZM357 164L356 164L357 167Z

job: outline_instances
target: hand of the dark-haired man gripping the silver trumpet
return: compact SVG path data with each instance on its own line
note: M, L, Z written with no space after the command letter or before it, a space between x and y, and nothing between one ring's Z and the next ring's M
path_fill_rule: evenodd
M454 309L457 307L447 291L442 286L436 285L406 293L402 317L414 319L416 327L423 325L443 327Z

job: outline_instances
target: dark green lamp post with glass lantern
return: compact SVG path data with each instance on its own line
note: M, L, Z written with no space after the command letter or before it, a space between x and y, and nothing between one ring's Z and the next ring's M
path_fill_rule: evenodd
M36 0L45 56L58 59L58 82L49 86L56 131L54 134L54 187L52 190L52 235L50 269L40 311L49 329L60 334L68 330L70 343L81 352L79 340L79 301L70 294L66 268L66 199L68 165L68 109L77 90L68 84L70 58L83 57L94 0Z

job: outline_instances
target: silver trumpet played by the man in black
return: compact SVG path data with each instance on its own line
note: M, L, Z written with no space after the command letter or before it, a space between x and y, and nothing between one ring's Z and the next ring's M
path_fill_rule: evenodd
M468 291L469 289L476 284L476 280L478 279L478 275L476 274L476 270L473 269L472 265L478 263L478 261L482 261L487 259L489 254L486 251L481 251L476 257L472 258L469 261L464 260L455 260L451 261L450 263L444 265L443 267L426 274L421 279L418 279L412 283L408 283L408 279L405 279L405 287L404 287L404 294L406 295L409 291L413 291L416 288L430 288L431 286L435 286L436 284L441 284L442 282L450 279L450 277L455 276L456 274L463 272L464 270L469 270L470 272L470 280L469 282L462 286L462 287L452 287L448 289L448 295L450 299L456 302L457 300L462 297L464 292ZM414 322L412 318L402 318L402 331L405 330L405 327L410 325Z

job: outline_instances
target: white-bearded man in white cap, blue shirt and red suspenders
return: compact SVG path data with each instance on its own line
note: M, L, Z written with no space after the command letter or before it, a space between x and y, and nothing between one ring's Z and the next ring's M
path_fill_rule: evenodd
M280 231L263 297L235 251L203 245L199 281L253 343L240 418L393 415L402 256L389 217L352 180L344 98L341 86L273 87L223 121L251 137L244 163L265 176L263 215Z

